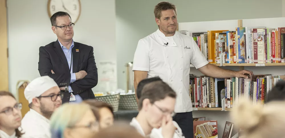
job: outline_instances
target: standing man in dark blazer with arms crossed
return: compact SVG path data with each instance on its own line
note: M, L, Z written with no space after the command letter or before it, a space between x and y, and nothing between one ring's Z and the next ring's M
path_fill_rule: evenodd
M62 103L95 99L91 88L98 83L98 72L93 47L73 41L74 23L67 12L56 12L50 21L58 39L39 48L40 76L54 79L64 93Z

